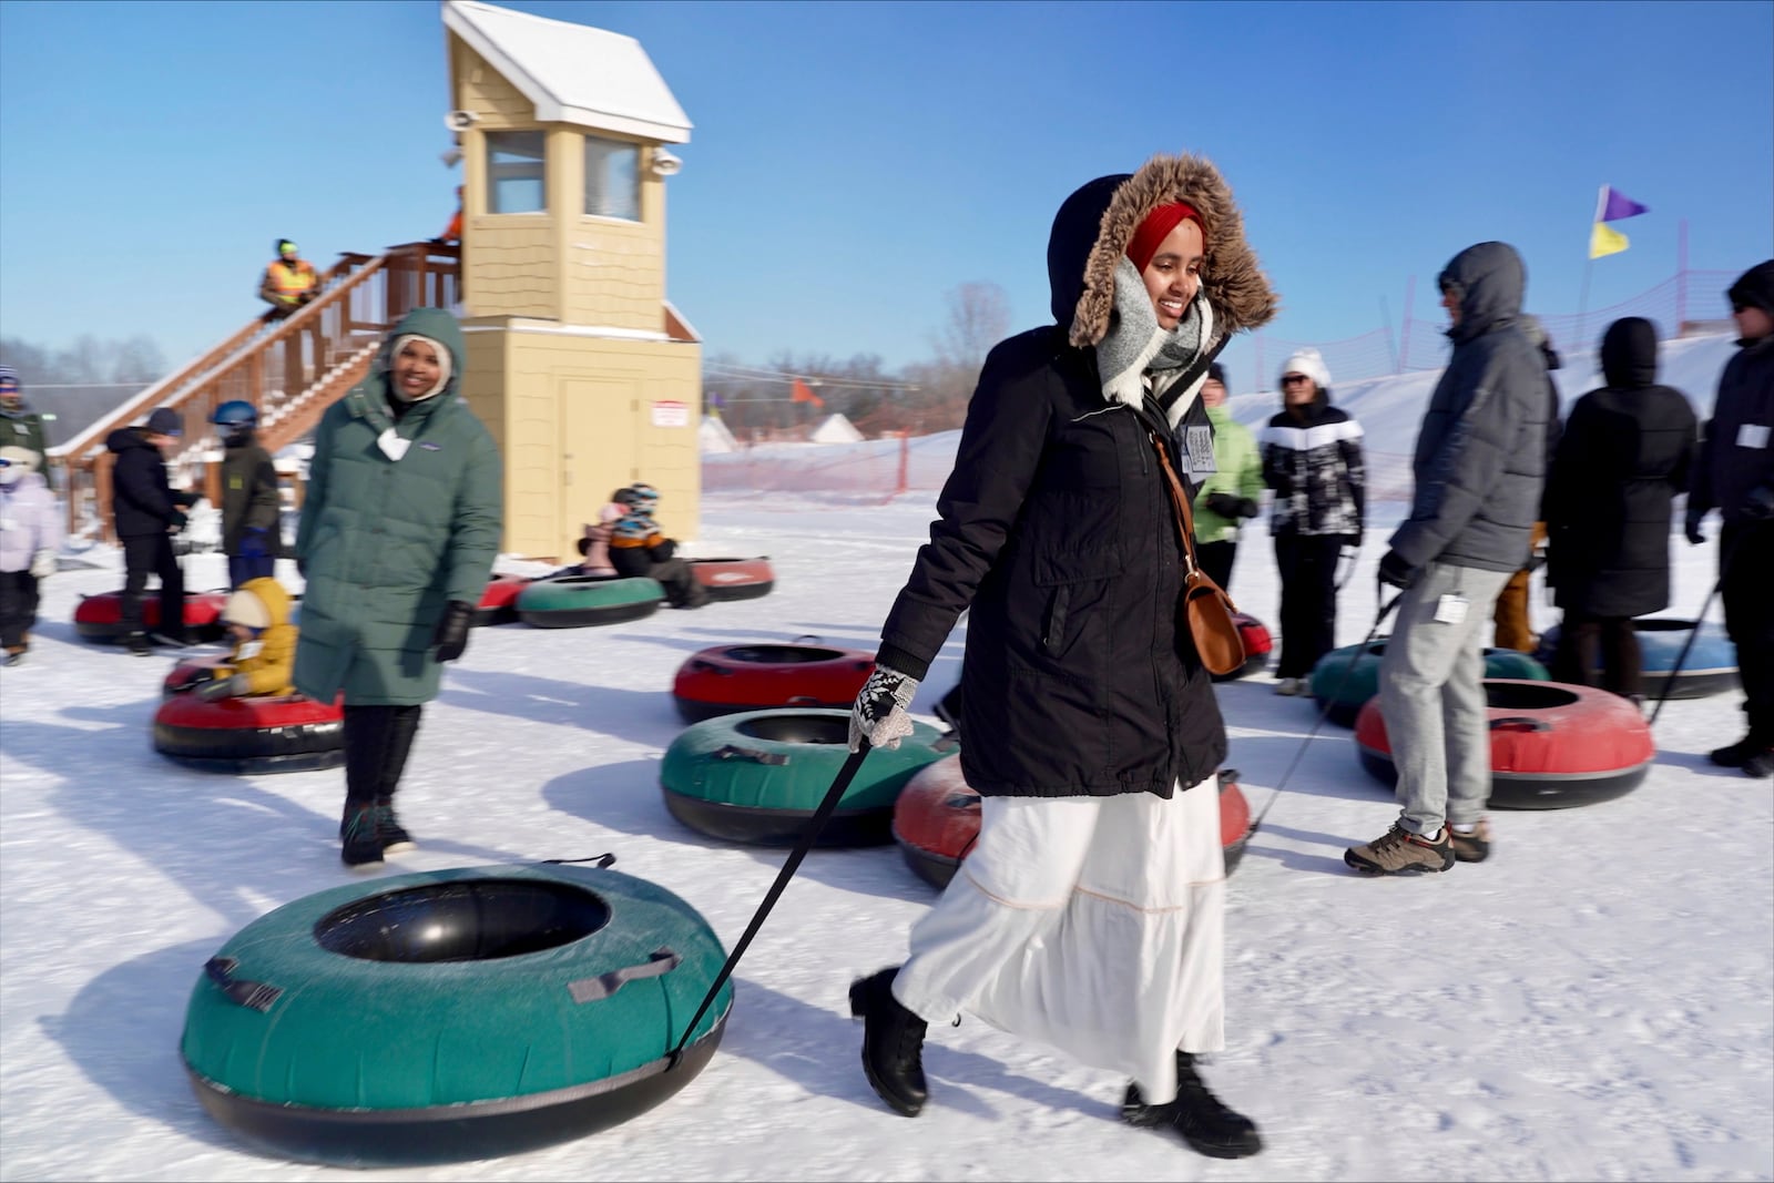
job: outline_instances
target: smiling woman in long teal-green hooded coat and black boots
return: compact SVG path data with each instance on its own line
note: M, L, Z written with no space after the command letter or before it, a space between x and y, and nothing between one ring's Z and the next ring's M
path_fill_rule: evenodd
M348 867L412 846L394 793L498 553L498 449L458 397L463 362L456 317L415 309L314 431L294 681L321 702L344 693Z

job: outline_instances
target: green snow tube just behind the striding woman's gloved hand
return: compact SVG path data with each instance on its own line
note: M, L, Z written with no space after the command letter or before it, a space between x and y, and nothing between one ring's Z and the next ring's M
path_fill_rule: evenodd
M820 846L892 841L899 789L949 752L942 733L912 722L896 748L875 748L820 832ZM711 837L761 846L798 842L850 756L850 711L784 708L703 720L672 740L660 764L671 814Z

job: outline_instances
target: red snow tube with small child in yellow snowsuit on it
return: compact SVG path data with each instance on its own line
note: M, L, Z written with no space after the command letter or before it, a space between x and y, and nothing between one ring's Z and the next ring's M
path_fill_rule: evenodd
M170 681L170 678L169 678ZM309 772L344 763L344 711L300 693L218 699L172 693L154 711L154 750L206 772Z

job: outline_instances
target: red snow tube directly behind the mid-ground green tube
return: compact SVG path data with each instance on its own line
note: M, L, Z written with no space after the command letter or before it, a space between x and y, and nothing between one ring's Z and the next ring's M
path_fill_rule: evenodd
M848 708L875 669L875 654L830 646L715 646L692 653L672 679L687 724L779 706Z

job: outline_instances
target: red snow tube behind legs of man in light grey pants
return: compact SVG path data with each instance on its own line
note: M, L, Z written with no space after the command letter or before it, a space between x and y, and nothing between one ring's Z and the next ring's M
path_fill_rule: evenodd
M1657 747L1627 699L1559 681L1487 678L1490 805L1570 809L1623 796L1650 772ZM1380 701L1355 717L1362 766L1393 784L1393 748Z

